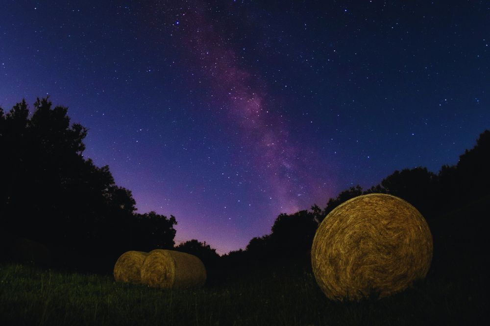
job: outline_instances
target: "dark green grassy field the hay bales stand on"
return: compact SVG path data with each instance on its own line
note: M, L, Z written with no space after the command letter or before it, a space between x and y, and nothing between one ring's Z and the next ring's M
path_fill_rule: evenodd
M469 272L469 271L468 271ZM327 300L309 273L231 278L159 290L110 276L0 265L1 325L474 325L488 307L483 273L429 277L379 301Z

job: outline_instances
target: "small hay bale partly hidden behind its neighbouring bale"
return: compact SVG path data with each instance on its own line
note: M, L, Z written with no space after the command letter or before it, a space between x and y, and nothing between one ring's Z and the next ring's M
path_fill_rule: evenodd
M120 282L141 283L141 266L148 253L128 251L114 265L114 279Z

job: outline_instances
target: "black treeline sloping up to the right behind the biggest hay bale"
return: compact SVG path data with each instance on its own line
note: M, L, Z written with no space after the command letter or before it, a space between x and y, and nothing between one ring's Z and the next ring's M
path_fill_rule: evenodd
M490 217L490 131L459 157L456 165L443 165L438 174L426 167L395 170L380 184L363 190L359 185L330 198L324 208L280 214L271 233L254 237L246 250L223 256L227 266L247 273L253 266L287 272L311 271L310 248L319 223L343 202L363 194L388 193L405 199L426 218L434 237L434 269L447 274L455 261L481 259L486 247L484 223ZM460 255L460 256L458 256ZM464 264L463 264L464 265ZM252 268L250 267L252 266Z

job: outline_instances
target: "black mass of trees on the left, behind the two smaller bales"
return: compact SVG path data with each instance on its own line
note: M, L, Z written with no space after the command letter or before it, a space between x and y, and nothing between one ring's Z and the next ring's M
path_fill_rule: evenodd
M135 215L131 192L115 184L109 166L83 157L87 129L70 125L68 108L52 108L49 98L34 108L30 118L25 100L0 110L2 238L38 241L58 263L90 269L98 269L98 258L110 266L124 251L145 247L138 241L172 247L175 218L166 224L154 213ZM148 220L156 230L139 234Z

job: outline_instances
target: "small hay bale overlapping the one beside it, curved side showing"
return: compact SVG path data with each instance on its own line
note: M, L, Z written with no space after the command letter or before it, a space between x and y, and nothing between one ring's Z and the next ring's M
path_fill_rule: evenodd
M143 263L141 280L149 286L166 289L201 286L206 281L206 269L194 255L155 249Z

